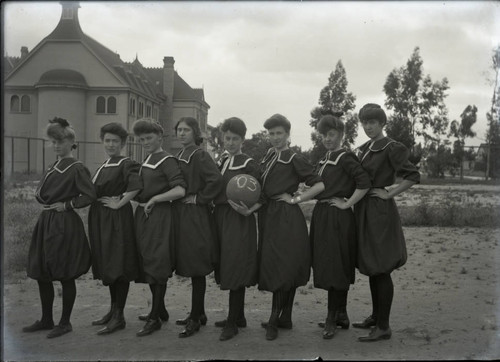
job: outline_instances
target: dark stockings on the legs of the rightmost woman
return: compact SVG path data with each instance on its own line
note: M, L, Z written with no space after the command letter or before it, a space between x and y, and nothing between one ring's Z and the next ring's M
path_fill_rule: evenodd
M389 328L394 285L390 274L380 274L370 277L370 290L377 326L381 329Z

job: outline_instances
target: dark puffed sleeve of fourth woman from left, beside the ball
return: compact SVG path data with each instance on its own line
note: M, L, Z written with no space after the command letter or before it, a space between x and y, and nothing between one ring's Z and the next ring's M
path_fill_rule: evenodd
M197 158L197 166L205 182L204 187L196 194L196 203L209 204L222 190L222 174L207 152L199 151L194 156Z

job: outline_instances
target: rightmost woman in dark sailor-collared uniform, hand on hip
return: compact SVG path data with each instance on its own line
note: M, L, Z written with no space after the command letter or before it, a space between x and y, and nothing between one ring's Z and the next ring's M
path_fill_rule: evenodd
M370 141L359 148L359 158L370 175L372 188L354 208L358 228L357 268L369 277L373 309L371 316L353 323L353 327L374 327L368 336L359 338L362 342L373 342L391 338L389 315L394 295L391 272L407 259L394 196L418 183L420 174L408 161L408 149L384 136L387 118L379 105L364 105L359 119L370 137ZM396 181L396 172L403 180L398 186L386 189Z

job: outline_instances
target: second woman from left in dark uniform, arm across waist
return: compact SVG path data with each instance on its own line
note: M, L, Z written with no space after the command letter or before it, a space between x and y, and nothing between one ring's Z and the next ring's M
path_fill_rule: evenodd
M134 214L130 200L141 189L139 164L121 155L128 132L119 123L101 128L109 158L92 178L98 200L90 206L89 238L94 279L109 286L111 308L93 325L106 325L97 334L125 328L123 309L130 282L138 277Z

